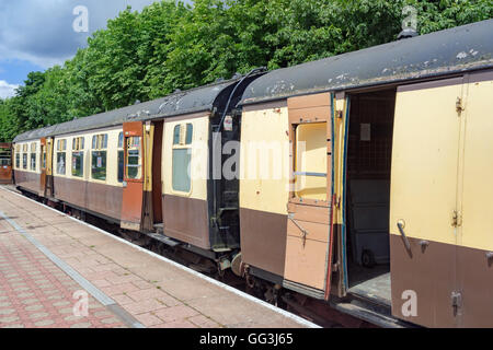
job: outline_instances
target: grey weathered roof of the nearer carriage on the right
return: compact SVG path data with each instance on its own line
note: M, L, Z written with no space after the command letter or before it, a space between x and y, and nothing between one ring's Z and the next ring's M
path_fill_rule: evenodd
M493 67L493 20L272 71L240 105Z

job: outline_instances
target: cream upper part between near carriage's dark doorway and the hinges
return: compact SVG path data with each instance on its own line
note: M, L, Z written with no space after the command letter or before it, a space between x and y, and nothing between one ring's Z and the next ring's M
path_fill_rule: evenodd
M397 94L390 196L390 233L404 223L410 237L456 244L462 79L422 83ZM417 108L416 108L417 107Z

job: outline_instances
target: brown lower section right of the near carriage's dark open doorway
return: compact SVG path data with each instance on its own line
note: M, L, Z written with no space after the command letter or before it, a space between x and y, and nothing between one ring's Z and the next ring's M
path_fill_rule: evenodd
M426 327L493 327L493 261L485 250L390 235L392 314ZM417 315L404 316L402 293L415 291ZM454 292L461 305L452 306Z

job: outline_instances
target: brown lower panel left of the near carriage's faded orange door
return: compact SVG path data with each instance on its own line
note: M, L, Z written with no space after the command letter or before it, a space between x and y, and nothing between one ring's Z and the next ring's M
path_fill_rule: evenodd
M243 261L284 276L287 215L241 208L240 232Z

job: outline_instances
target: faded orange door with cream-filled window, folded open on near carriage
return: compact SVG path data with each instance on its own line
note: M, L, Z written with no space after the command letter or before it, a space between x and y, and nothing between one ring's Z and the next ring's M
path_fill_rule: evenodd
M291 182L285 280L324 295L332 194L331 95L288 100ZM299 285L301 284L301 285Z

